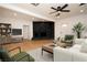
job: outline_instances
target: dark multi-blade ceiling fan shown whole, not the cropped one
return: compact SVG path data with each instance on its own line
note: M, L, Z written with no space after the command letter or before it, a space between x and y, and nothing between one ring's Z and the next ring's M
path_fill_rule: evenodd
M64 4L63 7L57 7L57 8L51 7L51 9L53 9L55 11L51 12L50 14L58 12L56 14L56 17L58 17L61 14L59 12L69 12L70 10L65 10L65 8L67 8L67 7L68 7L68 4Z

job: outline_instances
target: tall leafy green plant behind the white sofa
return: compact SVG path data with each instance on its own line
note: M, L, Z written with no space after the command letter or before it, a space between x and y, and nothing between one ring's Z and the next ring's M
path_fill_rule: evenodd
M73 31L76 32L77 39L80 39L81 32L85 30L85 26L78 22L77 24L74 25Z

